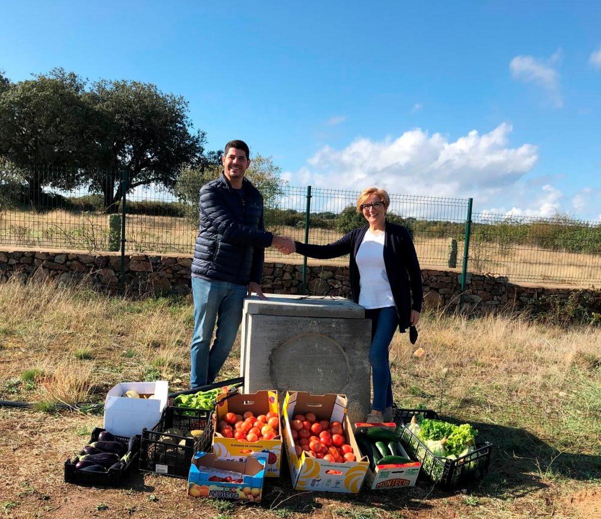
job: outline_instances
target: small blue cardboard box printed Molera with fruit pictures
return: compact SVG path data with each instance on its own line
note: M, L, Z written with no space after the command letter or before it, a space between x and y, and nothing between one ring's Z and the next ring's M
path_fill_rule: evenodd
M247 456L243 461L228 461L219 460L215 452L197 452L188 474L188 496L259 502L266 461L264 454ZM226 474L240 476L242 483L210 481L212 477Z

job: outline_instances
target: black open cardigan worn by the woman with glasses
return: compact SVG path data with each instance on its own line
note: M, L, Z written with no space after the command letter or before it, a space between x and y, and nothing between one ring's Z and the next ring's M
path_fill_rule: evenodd
M350 294L353 301L359 302L359 268L356 256L368 225L353 229L342 238L328 245L311 245L294 242L296 252L316 259L330 259L350 254ZM421 269L413 241L405 227L386 222L384 237L384 265L388 282L397 308L398 327L401 331L409 328L411 310L421 312L423 292Z

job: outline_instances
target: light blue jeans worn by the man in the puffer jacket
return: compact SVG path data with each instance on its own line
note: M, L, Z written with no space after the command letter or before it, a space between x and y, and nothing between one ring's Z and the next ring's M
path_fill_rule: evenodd
M213 383L224 365L242 320L246 286L192 276L194 335L191 346L190 385ZM217 321L215 341L209 350Z

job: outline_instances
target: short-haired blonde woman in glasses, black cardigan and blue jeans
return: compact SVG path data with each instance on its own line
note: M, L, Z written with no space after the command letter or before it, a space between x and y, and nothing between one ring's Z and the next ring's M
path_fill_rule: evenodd
M388 348L397 326L404 332L419 320L423 298L421 270L405 227L386 221L388 193L370 187L357 199L357 212L367 225L329 245L294 242L296 252L317 259L350 254L353 301L371 319L370 362L373 402L367 422L392 421L392 380Z

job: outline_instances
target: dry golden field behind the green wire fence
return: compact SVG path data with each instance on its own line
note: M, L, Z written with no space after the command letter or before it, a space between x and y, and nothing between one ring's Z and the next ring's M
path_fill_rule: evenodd
M185 218L130 214L126 217L127 248L136 252L178 252L194 249L196 230ZM278 234L304 241L299 227L276 226ZM312 229L310 241L325 244L340 238L340 233ZM75 250L108 250L109 217L99 212L0 212L0 245ZM421 265L447 267L448 238L416 235L415 246ZM457 266L461 268L463 242L457 244ZM282 256L268 250L272 259ZM345 263L345 259L340 262ZM588 286L601 281L601 256L568 251L544 250L526 245L499 245L472 241L468 271L506 275L513 281L551 281Z

